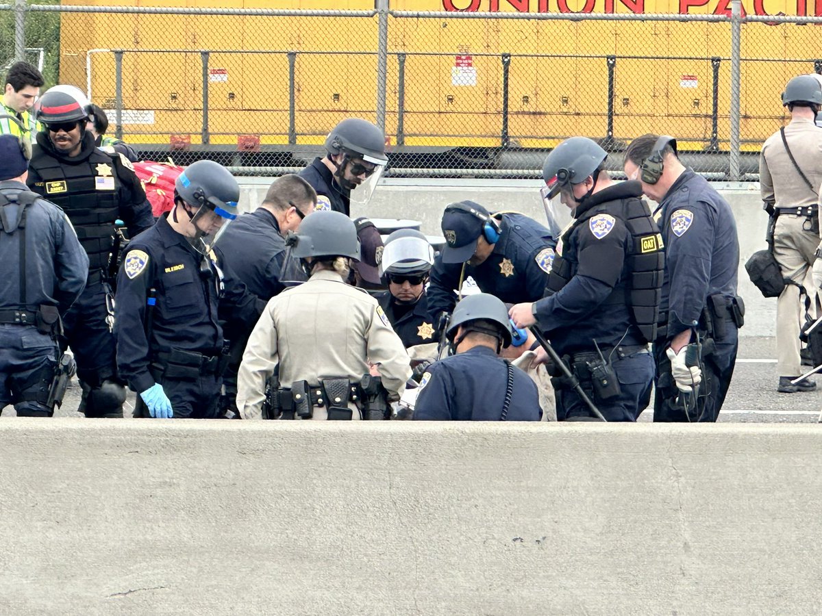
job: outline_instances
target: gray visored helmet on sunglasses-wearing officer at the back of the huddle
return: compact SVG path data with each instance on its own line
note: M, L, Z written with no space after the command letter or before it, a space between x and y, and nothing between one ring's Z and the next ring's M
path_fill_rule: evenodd
M335 163L337 182L350 191L355 204L366 205L388 163L386 133L367 120L349 117L328 134L326 151L330 155L344 154L342 163Z

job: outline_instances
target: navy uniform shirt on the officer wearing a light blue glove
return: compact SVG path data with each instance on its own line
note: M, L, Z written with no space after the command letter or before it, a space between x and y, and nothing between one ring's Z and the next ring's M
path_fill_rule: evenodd
M160 217L157 224L128 244L118 274L114 334L118 340L117 364L122 378L136 392L154 383L149 365L157 352L173 348L214 356L223 350L219 325L219 298L230 319L256 319L265 302L247 292L245 285L212 259L195 251L185 237ZM150 289L151 335L145 322Z

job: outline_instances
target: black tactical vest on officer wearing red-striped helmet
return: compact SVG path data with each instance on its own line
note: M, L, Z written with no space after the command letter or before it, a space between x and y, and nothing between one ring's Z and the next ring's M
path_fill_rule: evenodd
M89 255L89 270L107 270L119 216L120 178L112 156L95 148L88 158L69 162L38 147L30 167L43 180L43 186L33 190L62 208L72 221Z

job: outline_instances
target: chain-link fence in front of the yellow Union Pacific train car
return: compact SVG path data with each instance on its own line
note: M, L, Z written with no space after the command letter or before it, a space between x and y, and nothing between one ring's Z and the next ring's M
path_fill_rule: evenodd
M556 2L318 0L358 10L300 11L17 0L0 5L0 62L24 54L47 85L81 86L107 110L109 133L147 159L276 174L356 116L385 126L389 174L441 177L538 177L546 152L575 135L620 168L631 139L657 132L677 137L700 172L750 178L787 121L787 80L822 71L822 17L732 18L722 0L681 0L675 14L650 12L667 11L664 0L580 0L580 12Z

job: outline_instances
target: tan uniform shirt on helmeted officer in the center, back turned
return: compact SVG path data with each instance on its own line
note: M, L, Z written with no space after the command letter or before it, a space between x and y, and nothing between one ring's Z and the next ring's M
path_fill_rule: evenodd
M266 380L279 364L279 382L317 385L348 377L359 382L368 363L380 364L382 384L399 397L411 376L408 353L376 299L322 270L307 283L272 297L248 339L237 378L243 419L260 419ZM319 411L319 412L318 412ZM358 418L357 413L354 413ZM315 409L315 419L326 410Z

